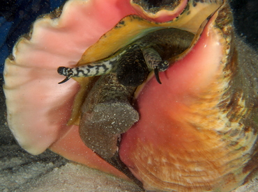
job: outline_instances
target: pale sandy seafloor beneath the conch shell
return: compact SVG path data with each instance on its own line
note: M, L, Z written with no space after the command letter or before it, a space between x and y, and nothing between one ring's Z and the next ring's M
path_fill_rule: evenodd
M50 150L38 156L22 150L6 123L2 88L0 96L0 191L142 191L133 183L73 163ZM258 175L234 190L243 191L258 191Z

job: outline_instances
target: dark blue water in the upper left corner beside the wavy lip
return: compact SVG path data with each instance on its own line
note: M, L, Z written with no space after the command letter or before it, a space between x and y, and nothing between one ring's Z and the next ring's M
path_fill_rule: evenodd
M61 6L65 0L0 0L0 72L20 35L29 32L39 15Z

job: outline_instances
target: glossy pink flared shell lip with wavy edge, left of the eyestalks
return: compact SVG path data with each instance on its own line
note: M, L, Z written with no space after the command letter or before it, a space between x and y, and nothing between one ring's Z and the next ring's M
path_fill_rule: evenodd
M73 161L117 173L82 145L77 126L66 125L79 85L73 79L58 84L63 77L56 69L75 66L84 51L120 19L138 13L128 0L68 1L61 17L38 19L31 39L17 42L14 60L6 60L4 89L8 125L25 150L40 154L50 147ZM176 15L160 17L167 20Z

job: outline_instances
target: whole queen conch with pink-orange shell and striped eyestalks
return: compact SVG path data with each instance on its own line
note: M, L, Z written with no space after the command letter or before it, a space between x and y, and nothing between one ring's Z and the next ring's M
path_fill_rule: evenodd
M257 53L222 0L70 0L4 67L8 126L146 191L232 191L257 169Z

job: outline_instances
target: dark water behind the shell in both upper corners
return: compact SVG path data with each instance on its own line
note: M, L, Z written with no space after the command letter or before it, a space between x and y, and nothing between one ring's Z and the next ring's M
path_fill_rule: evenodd
M29 32L29 27L36 17L50 13L64 1L0 0L0 73L3 71L6 57L12 52L20 35ZM151 3L153 0L146 1ZM258 49L258 0L233 0L231 6L238 35Z

